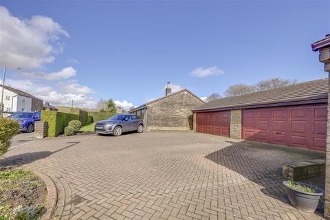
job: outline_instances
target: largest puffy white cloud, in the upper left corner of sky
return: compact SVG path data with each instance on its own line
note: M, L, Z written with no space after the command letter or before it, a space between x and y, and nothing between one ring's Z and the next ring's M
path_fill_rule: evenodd
M63 51L61 36L69 37L50 17L19 19L0 6L0 20L0 65L8 69L34 69L53 63L54 55Z

